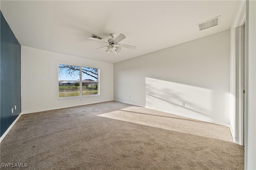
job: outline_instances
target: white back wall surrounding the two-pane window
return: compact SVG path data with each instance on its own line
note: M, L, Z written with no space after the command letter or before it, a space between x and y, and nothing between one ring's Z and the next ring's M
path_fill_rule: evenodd
M113 100L112 63L24 46L21 51L22 113ZM100 96L58 100L58 63L100 68Z

